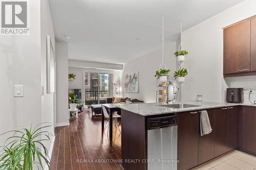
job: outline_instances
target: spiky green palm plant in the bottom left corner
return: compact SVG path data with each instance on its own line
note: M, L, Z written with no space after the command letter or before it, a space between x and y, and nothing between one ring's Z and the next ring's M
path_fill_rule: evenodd
M32 129L23 128L17 131L8 131L4 134L12 133L0 152L0 169L9 170L32 170L33 166L43 167L43 162L50 168L50 158L47 148L42 143L51 141L48 131L49 126L37 125ZM4 135L2 134L2 135Z

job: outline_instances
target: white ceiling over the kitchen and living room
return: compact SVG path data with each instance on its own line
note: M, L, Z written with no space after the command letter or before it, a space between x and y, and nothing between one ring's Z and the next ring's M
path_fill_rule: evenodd
M244 0L49 0L55 36L69 59L123 64Z

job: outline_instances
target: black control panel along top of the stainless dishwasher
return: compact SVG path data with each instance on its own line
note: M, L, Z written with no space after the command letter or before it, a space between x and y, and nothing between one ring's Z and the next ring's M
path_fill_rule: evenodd
M177 125L177 115L147 119L147 130L175 125Z

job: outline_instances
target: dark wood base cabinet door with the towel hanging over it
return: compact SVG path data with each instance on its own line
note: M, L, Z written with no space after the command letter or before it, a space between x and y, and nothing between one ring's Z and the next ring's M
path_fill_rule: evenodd
M214 145L215 145L215 112L216 109L207 110L208 117L212 132L208 135L201 136L198 138L198 164L204 163L210 159L215 158Z

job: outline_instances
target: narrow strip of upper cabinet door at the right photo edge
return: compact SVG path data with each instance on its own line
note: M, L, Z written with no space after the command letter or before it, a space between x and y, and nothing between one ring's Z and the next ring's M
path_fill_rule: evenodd
M251 71L256 71L256 17L251 18Z

